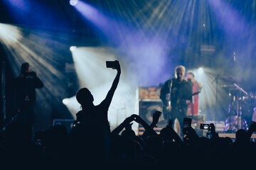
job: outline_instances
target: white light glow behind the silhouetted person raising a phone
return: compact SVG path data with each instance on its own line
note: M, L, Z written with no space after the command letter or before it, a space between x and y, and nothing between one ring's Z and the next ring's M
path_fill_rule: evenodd
M117 70L106 67L106 61L117 60L112 50L105 47L78 47L75 52L72 52L75 71L78 74L80 88L86 87L92 93L98 105L107 96L107 92L112 86ZM124 66L121 61L121 69ZM117 86L117 90L112 98L112 103L108 111L108 120L110 128L113 130L124 121L129 115L135 114L136 89L133 89L131 79L125 80L124 73L122 74ZM68 99L65 106L68 107L70 113L75 114L80 111L80 105L76 101L75 96ZM137 127L132 127L137 132Z

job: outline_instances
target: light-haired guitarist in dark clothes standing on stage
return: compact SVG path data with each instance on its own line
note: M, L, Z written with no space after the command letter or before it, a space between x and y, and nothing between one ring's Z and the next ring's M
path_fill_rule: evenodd
M185 67L182 65L177 66L175 69L176 77L167 80L160 91L160 98L164 104L164 117L167 120L174 120L174 122L178 120L179 130L183 127L183 118L186 117L192 95L192 86L184 79L185 72ZM174 127L174 129L176 128ZM180 135L180 131L177 133Z

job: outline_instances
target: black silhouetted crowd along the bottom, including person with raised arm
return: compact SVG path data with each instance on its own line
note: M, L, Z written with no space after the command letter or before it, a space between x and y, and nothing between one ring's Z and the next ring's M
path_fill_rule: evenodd
M238 130L235 140L219 137L210 124L210 137L188 129L186 140L172 124L156 132L159 111L152 113L149 125L140 115L132 114L117 128L110 130L108 107L119 81L121 69L116 61L117 76L105 100L93 105L88 89L77 94L82 110L68 132L65 125L53 125L35 132L25 123L6 125L0 143L1 169L236 169L254 166L256 143L251 139L256 123ZM170 121L171 122L171 121ZM132 125L144 128L137 135Z

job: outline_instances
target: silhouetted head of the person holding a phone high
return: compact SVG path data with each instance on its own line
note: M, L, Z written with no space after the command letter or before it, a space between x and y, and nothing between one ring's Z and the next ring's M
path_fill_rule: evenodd
M80 89L76 94L76 98L78 103L80 103L82 106L86 105L86 103L92 103L94 101L91 92L87 88Z

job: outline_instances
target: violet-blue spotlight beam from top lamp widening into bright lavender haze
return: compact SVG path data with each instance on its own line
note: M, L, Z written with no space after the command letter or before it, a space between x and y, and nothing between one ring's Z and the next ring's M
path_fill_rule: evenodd
M108 18L81 1L74 7L117 45L116 50L123 54L120 57L125 57L129 74L136 77L138 86L158 86L174 74L174 67L166 64L170 58L166 35L148 35L146 30Z

